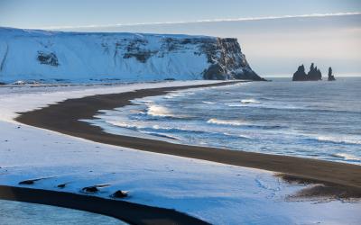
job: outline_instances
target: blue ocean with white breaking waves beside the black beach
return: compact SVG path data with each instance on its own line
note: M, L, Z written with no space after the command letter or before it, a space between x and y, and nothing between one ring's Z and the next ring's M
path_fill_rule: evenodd
M274 78L133 103L89 122L121 135L361 165L361 77Z

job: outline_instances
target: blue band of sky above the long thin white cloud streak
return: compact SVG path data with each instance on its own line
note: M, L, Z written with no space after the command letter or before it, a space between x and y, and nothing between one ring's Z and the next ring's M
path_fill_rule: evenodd
M358 12L359 0L0 0L0 25L32 28Z

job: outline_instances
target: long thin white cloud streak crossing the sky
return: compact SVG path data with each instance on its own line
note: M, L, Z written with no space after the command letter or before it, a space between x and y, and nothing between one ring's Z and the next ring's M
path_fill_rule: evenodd
M282 16L264 16L264 17L241 17L231 19L210 19L198 21L178 21L178 22L154 22L154 23L115 23L103 25L85 25L85 26L51 26L41 27L37 29L45 30L62 30L62 29L91 29L91 28L110 28L110 27L126 27L126 26L144 26L144 25L167 25L167 24L187 24L187 23L218 23L218 22L245 22L245 21L263 21L263 20L279 20L290 18L312 18L312 17L329 17L329 16L344 16L344 15L359 15L356 13L335 13L335 14L299 14L299 15L282 15Z

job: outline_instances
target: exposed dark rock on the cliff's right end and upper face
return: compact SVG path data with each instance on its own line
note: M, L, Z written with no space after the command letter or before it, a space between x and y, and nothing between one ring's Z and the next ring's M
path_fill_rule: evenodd
M164 38L159 50L147 49L147 40L124 40L129 42L125 48L123 58L136 58L145 63L149 58L163 58L166 54L177 53L197 46L195 55L206 54L210 66L203 71L204 79L247 79L262 81L248 65L245 55L242 53L239 43L232 38ZM118 43L121 49L122 42Z

